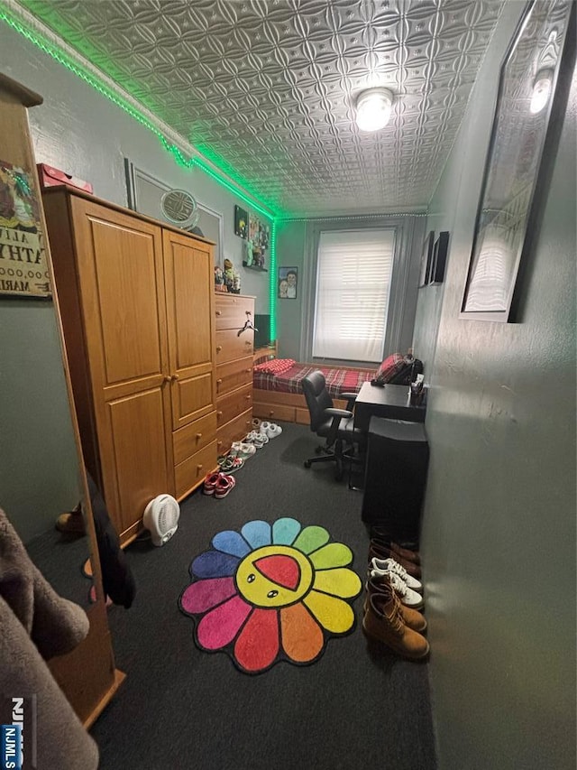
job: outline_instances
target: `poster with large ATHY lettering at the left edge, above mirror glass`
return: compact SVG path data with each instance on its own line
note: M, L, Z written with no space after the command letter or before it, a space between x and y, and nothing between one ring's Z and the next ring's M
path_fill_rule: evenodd
M0 294L50 297L50 293L32 174L0 161Z

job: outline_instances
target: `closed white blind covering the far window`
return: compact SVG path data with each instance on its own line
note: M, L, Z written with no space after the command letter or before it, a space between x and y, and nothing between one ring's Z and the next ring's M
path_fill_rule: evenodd
M395 231L321 232L313 356L382 360Z

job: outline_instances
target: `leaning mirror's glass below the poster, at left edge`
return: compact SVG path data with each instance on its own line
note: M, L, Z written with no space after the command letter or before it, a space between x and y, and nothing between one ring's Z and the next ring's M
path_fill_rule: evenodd
M0 296L0 335L0 507L54 589L87 608L86 525L55 526L83 493L54 303Z

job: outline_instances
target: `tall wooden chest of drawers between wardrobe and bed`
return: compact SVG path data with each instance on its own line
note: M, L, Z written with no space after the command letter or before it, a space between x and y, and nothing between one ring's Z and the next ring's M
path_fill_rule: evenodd
M216 423L218 454L252 430L252 350L254 297L215 293ZM244 329L239 334L239 331Z

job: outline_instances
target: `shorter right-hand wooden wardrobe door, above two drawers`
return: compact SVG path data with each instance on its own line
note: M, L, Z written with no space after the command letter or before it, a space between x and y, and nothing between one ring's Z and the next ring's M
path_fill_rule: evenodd
M164 230L172 428L215 410L212 246Z

